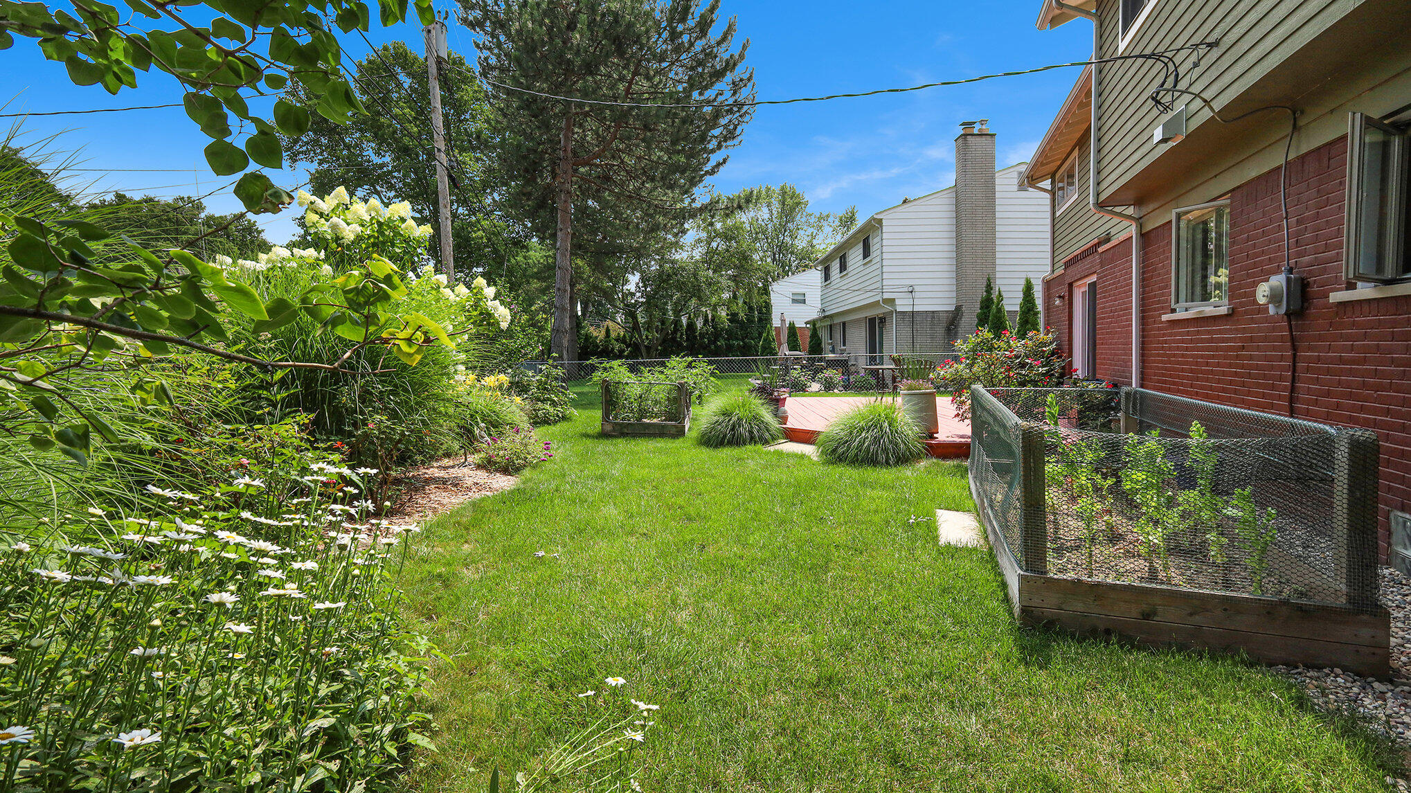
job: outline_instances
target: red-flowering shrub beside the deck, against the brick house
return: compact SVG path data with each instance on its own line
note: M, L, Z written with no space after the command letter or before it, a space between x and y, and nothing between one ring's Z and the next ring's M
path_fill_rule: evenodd
M1054 388L1067 374L1068 358L1058 353L1058 337L1051 329L1016 336L1007 330L998 336L981 329L955 341L955 357L935 367L931 381L937 391L950 391L955 415L969 418L969 387Z

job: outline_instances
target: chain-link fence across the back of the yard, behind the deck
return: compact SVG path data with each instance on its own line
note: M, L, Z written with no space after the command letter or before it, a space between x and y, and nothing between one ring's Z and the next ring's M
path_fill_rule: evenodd
M761 373L777 378L779 388L793 392L890 392L902 377L902 370L896 365L895 357L909 360L924 360L934 370L935 364L952 357L954 353L897 353L859 354L859 356L804 356L790 353L787 356L732 356L732 357L680 357L680 358L629 358L612 361L625 364L632 374L650 373L652 370L672 364L673 361L691 360L710 364L720 380L758 380ZM581 382L593 378L593 374L608 361L566 361L557 364L563 367L564 380ZM538 371L546 361L523 361L519 364L528 371Z

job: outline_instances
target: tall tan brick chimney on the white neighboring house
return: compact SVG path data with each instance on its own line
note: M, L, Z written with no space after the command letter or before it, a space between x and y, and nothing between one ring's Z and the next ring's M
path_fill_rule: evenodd
M965 121L955 138L955 303L975 323L985 278L995 275L995 133ZM968 329L967 329L968 332Z

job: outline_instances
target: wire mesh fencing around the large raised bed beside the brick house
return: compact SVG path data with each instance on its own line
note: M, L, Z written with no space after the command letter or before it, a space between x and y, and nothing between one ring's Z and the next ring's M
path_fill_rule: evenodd
M1376 435L1141 388L971 399L976 502L1020 570L1376 610Z

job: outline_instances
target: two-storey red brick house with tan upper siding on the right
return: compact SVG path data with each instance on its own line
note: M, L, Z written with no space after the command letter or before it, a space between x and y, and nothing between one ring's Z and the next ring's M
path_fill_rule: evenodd
M1068 23L1101 62L1024 179L1072 365L1374 430L1381 555L1411 553L1411 3L1043 0Z

